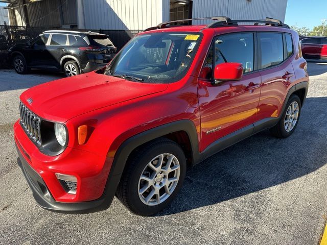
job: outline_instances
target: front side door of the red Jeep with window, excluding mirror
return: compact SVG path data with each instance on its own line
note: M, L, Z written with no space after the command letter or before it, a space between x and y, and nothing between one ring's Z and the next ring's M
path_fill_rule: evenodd
M201 151L256 120L261 76L255 71L254 57L254 33L225 34L214 39L199 78ZM213 67L224 62L242 63L242 79L212 85Z

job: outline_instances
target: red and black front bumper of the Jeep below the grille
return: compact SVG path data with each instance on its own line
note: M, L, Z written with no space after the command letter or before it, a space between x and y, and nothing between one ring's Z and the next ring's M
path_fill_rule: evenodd
M63 156L63 159L58 159L58 156L55 158L45 156L38 151L22 131L18 122L14 126L14 132L20 159L18 165L32 189L36 202L42 208L63 213L90 213L107 209L110 206L115 194L115 187L120 179L120 175L112 173L108 175L112 164L111 158L106 158L100 173L98 173L99 170L95 169L95 166L100 164L95 162L97 159L90 153L78 152L76 154L78 150L69 149L70 152L67 156ZM94 162L89 162L87 155L90 155ZM51 158L54 159L53 162L49 161ZM74 165L74 159L79 163L78 165ZM85 161L83 162L83 160ZM93 168L91 168L92 166ZM78 178L77 194L66 193L55 177L55 173L58 172L68 174L64 172L67 169L70 174Z

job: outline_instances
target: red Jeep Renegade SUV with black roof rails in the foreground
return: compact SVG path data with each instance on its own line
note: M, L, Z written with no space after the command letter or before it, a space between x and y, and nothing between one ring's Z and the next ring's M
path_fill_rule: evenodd
M176 197L186 167L265 129L294 132L309 83L296 32L212 19L161 23L103 69L21 94L18 163L41 207L94 212L116 195L151 215Z

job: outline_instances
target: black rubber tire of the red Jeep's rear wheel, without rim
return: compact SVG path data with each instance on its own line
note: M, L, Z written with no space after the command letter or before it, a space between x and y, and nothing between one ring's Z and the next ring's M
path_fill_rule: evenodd
M287 131L285 129L285 117L286 117L286 113L288 111L288 108L290 107L290 105L296 102L298 104L298 116L297 116L297 120L295 122L295 125L293 126L293 129L291 129L290 131ZM300 119L300 114L301 114L301 101L300 98L296 95L296 94L292 94L290 96L290 99L288 100L285 110L282 114L281 119L278 121L278 123L272 127L270 129L270 132L273 136L278 137L278 138L287 138L289 137L291 134L293 134L297 124L298 124L298 120Z

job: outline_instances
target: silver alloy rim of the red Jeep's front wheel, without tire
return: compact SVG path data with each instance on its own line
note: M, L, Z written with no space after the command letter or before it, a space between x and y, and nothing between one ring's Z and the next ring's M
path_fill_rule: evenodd
M154 157L138 180L138 197L149 206L166 201L175 190L180 176L178 159L164 153Z

